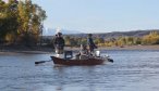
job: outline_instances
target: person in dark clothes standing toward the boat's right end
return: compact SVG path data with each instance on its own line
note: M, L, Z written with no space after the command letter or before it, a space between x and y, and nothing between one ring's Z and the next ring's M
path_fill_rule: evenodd
M97 49L97 46L94 43L91 37L93 37L93 35L91 34L88 34L87 44L88 44L88 48L89 48L89 52L90 53L94 53L94 49Z

